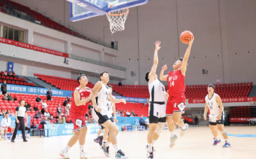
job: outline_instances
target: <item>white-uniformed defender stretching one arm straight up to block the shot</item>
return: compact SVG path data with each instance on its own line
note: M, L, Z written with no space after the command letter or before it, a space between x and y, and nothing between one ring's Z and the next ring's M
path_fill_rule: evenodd
M164 85L157 79L156 68L158 64L157 51L161 48L161 42L156 42L154 53L154 64L150 72L145 75L145 80L148 82L148 91L150 93L149 114L149 132L147 136L148 144L146 146L148 158L153 158L153 144L158 139L163 131L164 123L166 122L166 91Z

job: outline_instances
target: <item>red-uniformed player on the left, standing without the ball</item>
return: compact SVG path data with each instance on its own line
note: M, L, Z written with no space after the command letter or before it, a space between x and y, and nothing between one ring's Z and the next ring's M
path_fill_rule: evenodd
M77 77L77 82L80 84L79 87L76 87L72 96L74 96L71 107L70 107L70 119L72 123L74 123L74 133L69 140L67 146L61 150L60 156L64 158L69 158L67 153L68 149L70 149L74 144L76 144L77 140L79 140L80 147L80 157L81 159L88 158L84 153L84 142L85 136L87 132L87 127L85 124L85 114L88 111L89 101L91 100L93 93L89 87L86 87L88 84L88 79L86 75L82 74Z

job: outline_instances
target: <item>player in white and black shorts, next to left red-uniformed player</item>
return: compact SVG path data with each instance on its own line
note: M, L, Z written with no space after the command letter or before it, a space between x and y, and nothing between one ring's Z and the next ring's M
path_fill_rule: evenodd
M125 100L116 100L110 93L109 87L107 86L109 81L108 72L102 72L99 75L100 81L95 84L93 87L93 93L95 93L92 98L93 106L95 107L95 112L97 116L99 116L99 123L108 128L109 130L109 139L111 140L113 147L115 148L115 158L128 158L125 154L118 148L117 140L116 140L116 133L115 133L115 125L109 118L109 111L108 111L108 100L112 103L120 103L125 102ZM97 97L96 97L97 96ZM108 151L107 148L102 145L101 147L104 151Z

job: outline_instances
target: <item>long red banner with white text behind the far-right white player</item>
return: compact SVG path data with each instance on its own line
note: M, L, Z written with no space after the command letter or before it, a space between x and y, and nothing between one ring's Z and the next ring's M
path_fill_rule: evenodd
M256 102L256 97L243 97L243 98L221 98L222 103L232 102ZM189 99L188 103L205 103L205 99Z

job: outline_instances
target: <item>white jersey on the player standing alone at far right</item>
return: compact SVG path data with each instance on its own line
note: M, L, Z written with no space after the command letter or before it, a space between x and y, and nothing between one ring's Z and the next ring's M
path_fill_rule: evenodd
M218 116L220 113L220 106L216 102L216 93L213 93L212 98L209 98L209 95L205 96L205 101L208 104L208 107L210 109L211 114L209 116ZM222 114L224 115L223 109L222 109Z

